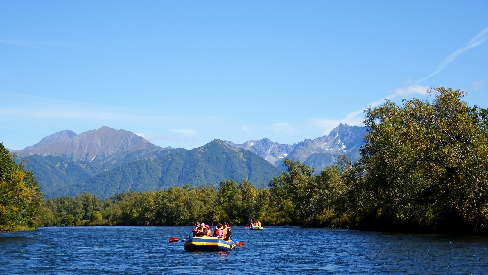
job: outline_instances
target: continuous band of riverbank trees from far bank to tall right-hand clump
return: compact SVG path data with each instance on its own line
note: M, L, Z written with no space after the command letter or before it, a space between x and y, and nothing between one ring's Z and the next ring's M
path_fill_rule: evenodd
M488 110L464 92L386 100L369 108L362 159L341 156L323 171L285 160L268 187L226 180L211 186L50 198L44 225L247 225L488 234Z

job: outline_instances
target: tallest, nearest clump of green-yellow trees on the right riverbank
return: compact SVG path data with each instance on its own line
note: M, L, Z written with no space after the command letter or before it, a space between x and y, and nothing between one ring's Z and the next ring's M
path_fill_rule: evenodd
M362 160L345 181L355 226L447 229L454 222L477 230L486 223L486 110L469 108L459 90L429 93L432 103L387 100L367 110Z

